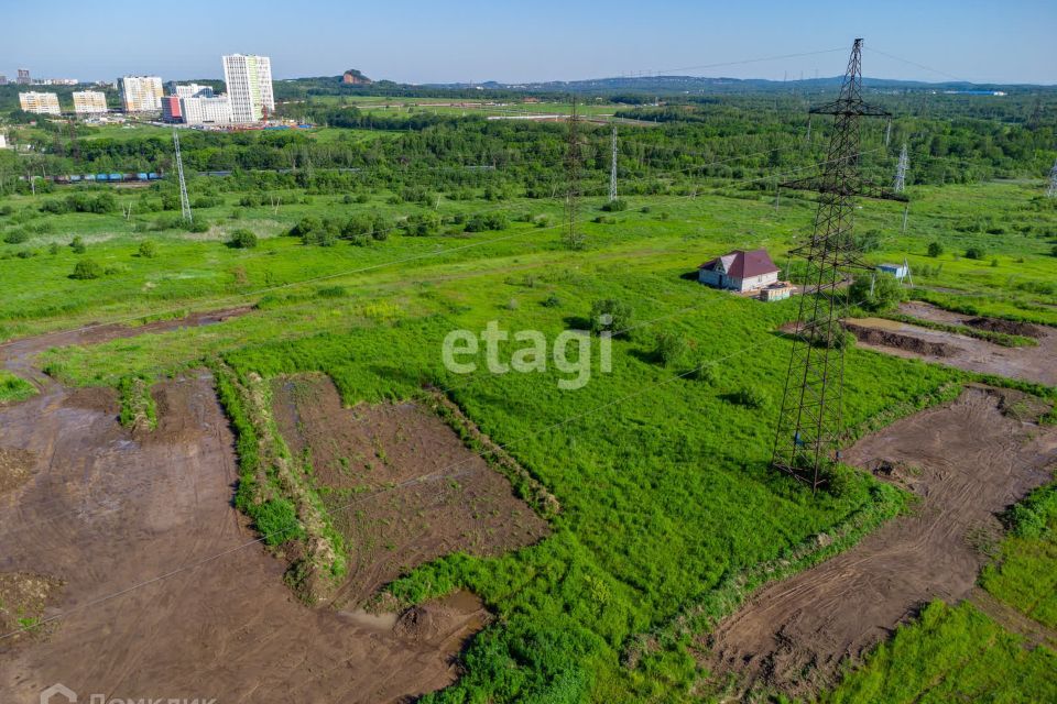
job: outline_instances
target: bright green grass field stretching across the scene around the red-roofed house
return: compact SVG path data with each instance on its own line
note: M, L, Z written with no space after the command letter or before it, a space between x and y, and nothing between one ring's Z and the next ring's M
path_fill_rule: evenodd
M331 136L323 131L320 139ZM922 296L1057 323L1057 257L1049 242L1057 210L1038 193L1034 184L1013 183L919 188L905 235L901 204L864 202L857 227L875 233L868 258L906 257L918 286L942 289ZM368 202L276 195L275 207L242 207L221 193L220 202L195 210L210 223L201 233L159 229L171 213L43 215L40 204L55 195L4 199L11 213L0 231L30 234L0 245L4 271L19 282L0 300L0 338L255 304L251 314L219 324L52 350L42 361L75 385L119 385L222 359L240 375L325 372L349 404L413 397L426 382L449 389L563 510L554 535L535 547L497 559L451 556L392 585L405 602L467 586L498 614L466 653L466 675L426 701L689 701L704 673L684 637L662 638L635 669L621 664L629 644L668 632L674 618L710 603L732 575L792 554L813 535L880 520L902 505L898 493L862 474L839 495L813 498L767 469L788 364L788 342L775 329L795 318L798 301L762 304L684 277L734 248L766 246L784 266L810 227L807 197L791 194L775 212L766 194L704 187L695 197L631 197L611 223L591 221L602 215L602 201L589 199L586 249L570 253L558 200L442 198L433 208L442 216L502 210L511 224L431 237L394 230L367 246L341 240L315 246L285 232L305 216L358 212L380 213L395 228L399 218L431 208L391 202L381 190ZM122 206L138 197L118 193ZM543 227L520 216L543 217ZM253 230L260 244L226 246L239 228ZM84 253L69 246L75 235ZM148 240L157 244L154 256L140 254ZM928 256L930 242L945 253ZM984 250L983 260L963 256L973 246ZM85 257L106 272L101 278L69 277ZM565 329L586 328L601 299L629 305L635 328L613 342L612 371L593 362L582 388L559 388L570 374L553 365L534 374L458 375L442 364L442 341L454 329L479 332L497 321L554 340ZM655 353L661 333L682 341L666 364ZM690 373L697 367L709 371ZM846 419L857 426L892 409L909 413L908 400L929 403L965 378L851 349ZM762 399L760 406L739 400L743 392ZM1051 575L1053 566L1029 546L1010 542L1005 550L989 588L1023 607L1012 595L1039 571ZM1024 560L1029 564L1021 566ZM1018 648L968 607L934 606L827 701L971 697L999 673L1051 684L1053 654ZM931 659L922 662L923 654Z

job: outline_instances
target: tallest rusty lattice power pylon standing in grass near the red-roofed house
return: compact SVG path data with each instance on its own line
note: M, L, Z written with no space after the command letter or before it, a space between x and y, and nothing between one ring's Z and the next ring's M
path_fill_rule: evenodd
M806 276L772 463L813 492L825 483L826 470L838 458L842 430L844 333L840 321L848 300L837 289L849 270L862 266L851 234L854 198L863 189L860 118L891 117L863 102L861 62L862 40L857 38L840 96L810 111L833 116L833 132L825 170L814 185L820 198L811 239L792 252L803 257Z

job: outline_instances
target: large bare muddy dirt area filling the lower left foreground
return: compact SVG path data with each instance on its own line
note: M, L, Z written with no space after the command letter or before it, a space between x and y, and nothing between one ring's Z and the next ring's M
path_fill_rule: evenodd
M34 458L0 495L0 598L45 619L31 637L4 637L3 619L3 704L35 704L55 682L85 702L397 702L456 679L488 619L476 597L425 604L400 628L303 606L231 506L233 438L209 376L154 393L146 437L118 425L106 394L58 384L0 409L0 447Z

